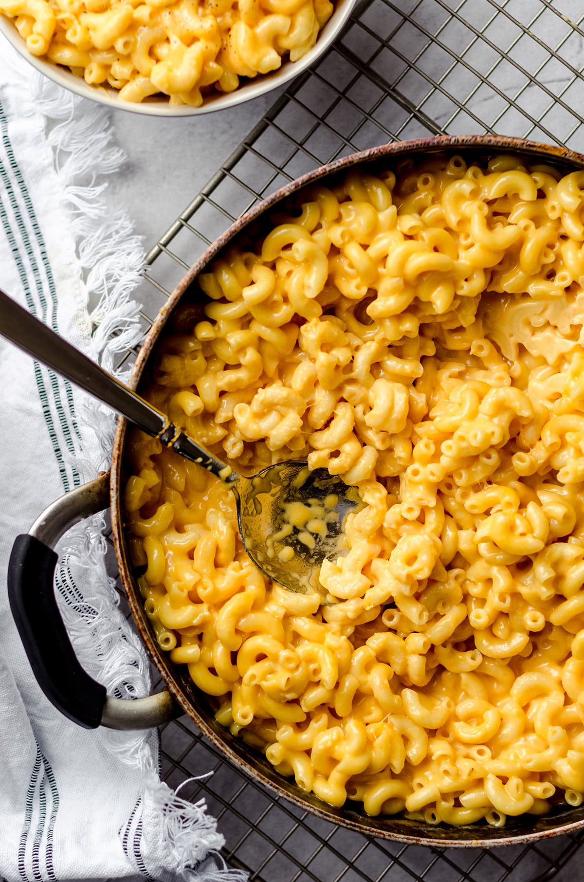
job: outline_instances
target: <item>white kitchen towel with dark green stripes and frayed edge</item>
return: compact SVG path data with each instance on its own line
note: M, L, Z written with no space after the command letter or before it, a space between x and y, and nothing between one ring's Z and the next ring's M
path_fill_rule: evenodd
M0 287L107 367L139 338L142 250L100 197L121 161L107 112L41 78L0 36ZM205 804L159 780L157 733L80 729L34 681L6 596L11 544L97 474L113 418L2 338L0 377L0 875L241 882L213 857L223 838ZM101 519L67 542L56 587L79 659L110 693L146 694L146 654L116 607Z

